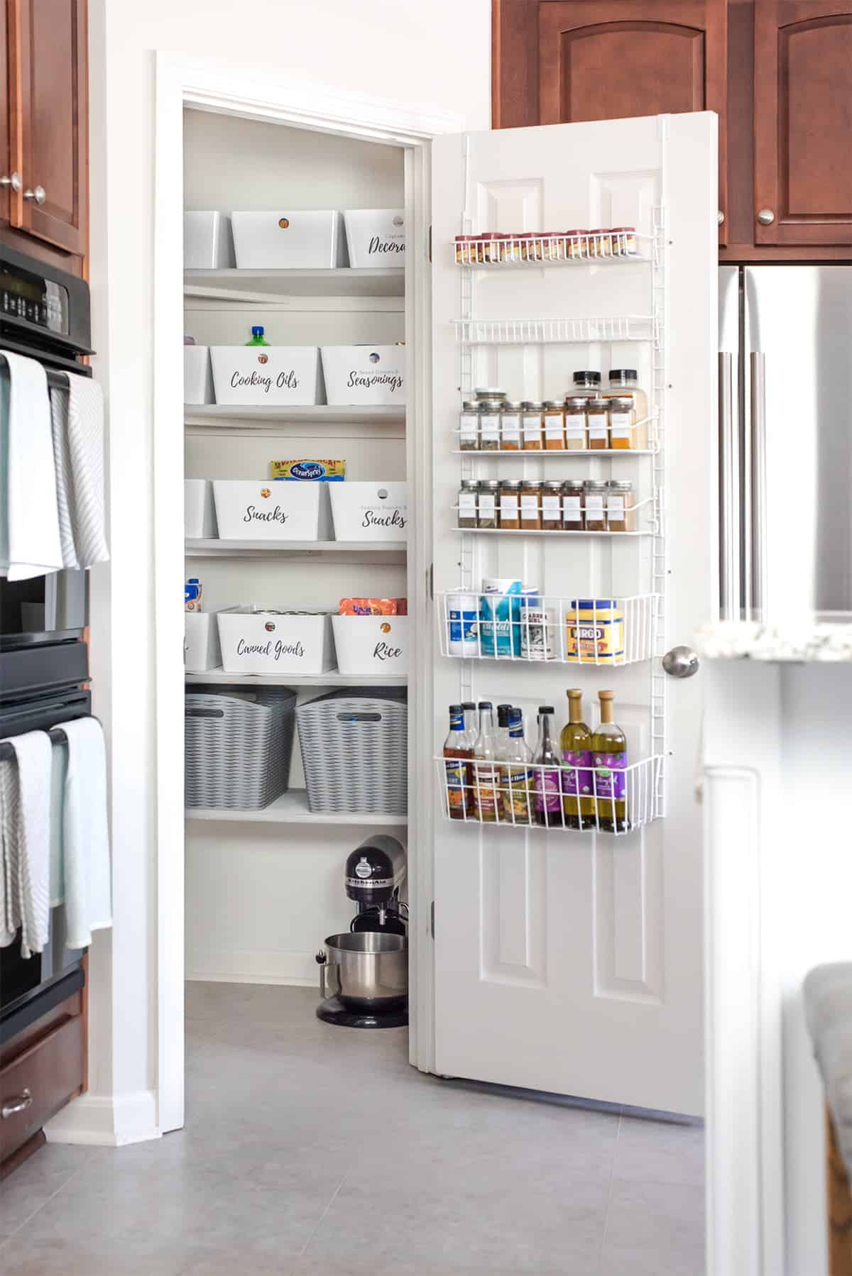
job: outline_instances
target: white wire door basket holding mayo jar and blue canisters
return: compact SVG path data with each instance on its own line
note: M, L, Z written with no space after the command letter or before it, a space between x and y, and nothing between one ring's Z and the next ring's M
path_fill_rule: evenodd
M580 606L588 602L589 606ZM551 595L436 593L441 655L607 669L653 660L659 596L625 598ZM493 606L489 606L493 605ZM506 616L492 615L505 604Z

